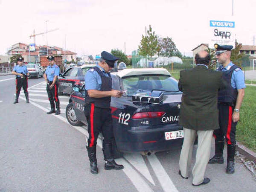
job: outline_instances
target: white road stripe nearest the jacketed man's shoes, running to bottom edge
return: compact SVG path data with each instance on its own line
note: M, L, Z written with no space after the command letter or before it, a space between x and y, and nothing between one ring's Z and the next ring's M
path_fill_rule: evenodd
M172 180L170 179L169 175L166 173L160 161L157 159L157 156L155 156L155 154L152 154L147 157L163 190L168 192L178 192L175 185L172 183Z

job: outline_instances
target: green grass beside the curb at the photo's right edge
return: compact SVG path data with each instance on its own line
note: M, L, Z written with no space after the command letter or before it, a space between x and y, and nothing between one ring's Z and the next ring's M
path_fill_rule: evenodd
M244 101L241 106L240 121L236 126L236 140L256 152L256 87L245 88Z

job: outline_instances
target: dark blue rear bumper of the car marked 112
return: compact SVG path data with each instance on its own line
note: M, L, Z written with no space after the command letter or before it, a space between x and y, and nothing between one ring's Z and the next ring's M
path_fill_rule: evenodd
M177 124L161 125L161 128L158 125L148 129L145 126L132 127L128 131L123 131L122 135L116 138L117 149L122 152L145 152L180 148L183 138L173 140L165 138L166 132L177 130L183 130L183 127Z

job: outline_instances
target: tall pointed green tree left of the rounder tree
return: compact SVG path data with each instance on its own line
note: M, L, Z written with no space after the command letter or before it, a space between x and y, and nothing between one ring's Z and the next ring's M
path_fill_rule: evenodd
M149 30L147 30L148 35L142 35L139 45L139 54L143 56L152 57L157 52L160 51L160 47L157 41L157 35L155 32L152 32L151 25L149 25Z

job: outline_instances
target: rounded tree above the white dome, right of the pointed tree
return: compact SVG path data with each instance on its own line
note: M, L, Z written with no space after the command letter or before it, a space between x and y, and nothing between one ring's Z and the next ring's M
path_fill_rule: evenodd
M172 57L178 56L182 57L179 50L176 48L175 43L172 41L172 38L159 38L158 45L160 47L159 55L162 57Z

